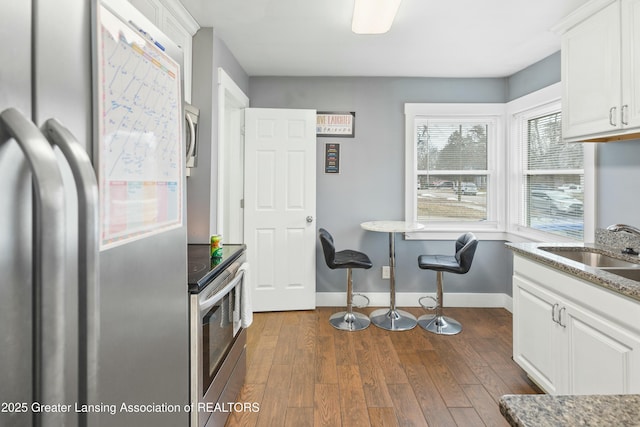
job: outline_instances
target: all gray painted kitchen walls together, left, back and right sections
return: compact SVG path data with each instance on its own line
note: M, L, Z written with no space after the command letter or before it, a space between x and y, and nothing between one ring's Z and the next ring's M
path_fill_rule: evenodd
M205 129L205 123L201 126L201 132L207 132L204 137L201 133L204 144L200 155L205 159L199 159L194 176L188 180L189 242L206 243L210 224L215 224L217 171L211 158L215 159L217 150L215 70L222 66L249 96L253 107L356 112L355 138L318 138L316 225L334 234L338 248L369 254L374 268L355 272L357 289L369 292L388 290L388 281L380 277L380 266L388 264L388 239L363 231L359 224L404 218L404 103L508 102L560 81L559 52L508 78L497 79L249 78L210 28L194 37L194 61L193 103L208 109L209 128ZM323 173L325 142L340 143L340 175ZM640 226L640 198L628 197L634 194L631 186L640 179L640 142L600 144L597 151L596 225L626 222ZM399 239L398 291L433 291L435 274L419 270L417 256L451 251L453 242ZM511 271L512 255L503 242L482 241L471 271L466 276L447 277L447 292L511 295ZM344 272L327 268L320 250L316 278L319 292L344 291Z

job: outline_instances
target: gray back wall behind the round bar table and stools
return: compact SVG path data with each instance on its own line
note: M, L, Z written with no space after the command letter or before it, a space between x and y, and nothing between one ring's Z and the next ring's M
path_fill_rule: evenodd
M355 272L356 287L386 292L388 280L380 266L388 265L388 237L366 232L360 223L375 219L404 219L404 103L505 102L508 92L539 89L526 77L507 79L446 78L326 78L251 77L253 107L315 108L319 111L355 111L355 138L318 138L317 227L328 229L338 249L366 252L374 263ZM540 86L543 87L543 86ZM339 142L339 175L323 173L325 142ZM450 241L404 241L396 244L397 290L435 289L435 273L422 271L417 257L452 253ZM511 294L511 253L502 241L482 241L471 271L449 275L447 292ZM318 292L343 292L345 272L327 268L318 246Z

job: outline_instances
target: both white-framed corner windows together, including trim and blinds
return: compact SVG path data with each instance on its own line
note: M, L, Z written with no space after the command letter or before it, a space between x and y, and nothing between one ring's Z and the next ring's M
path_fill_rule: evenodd
M562 142L560 97L405 104L406 238L593 241L595 144Z

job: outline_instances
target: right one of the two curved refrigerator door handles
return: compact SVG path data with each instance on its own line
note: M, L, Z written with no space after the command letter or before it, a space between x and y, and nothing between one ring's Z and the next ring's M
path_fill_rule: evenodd
M98 182L89 155L66 127L49 119L42 132L66 158L78 192L78 403L96 403L100 337ZM87 414L79 415L85 418L80 425L86 425Z

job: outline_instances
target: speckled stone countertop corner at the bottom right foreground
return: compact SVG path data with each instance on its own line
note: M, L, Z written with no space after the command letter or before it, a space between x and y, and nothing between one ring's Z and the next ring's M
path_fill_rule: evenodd
M638 427L640 395L505 395L500 412L513 427Z

